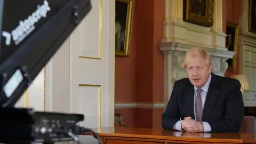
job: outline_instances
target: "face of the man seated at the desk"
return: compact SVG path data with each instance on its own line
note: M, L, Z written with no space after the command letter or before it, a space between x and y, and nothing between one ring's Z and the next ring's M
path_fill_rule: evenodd
M207 66L202 57L196 56L188 61L186 70L190 83L201 88L211 74L212 65Z

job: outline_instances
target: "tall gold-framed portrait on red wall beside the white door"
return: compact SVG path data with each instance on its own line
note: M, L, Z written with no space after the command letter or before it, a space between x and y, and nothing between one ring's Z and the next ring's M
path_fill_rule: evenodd
M129 57L134 0L116 0L115 55Z

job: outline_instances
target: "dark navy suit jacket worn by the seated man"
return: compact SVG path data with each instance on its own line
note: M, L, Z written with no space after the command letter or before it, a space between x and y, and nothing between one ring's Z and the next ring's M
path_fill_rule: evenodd
M208 122L212 132L239 132L244 116L241 84L237 79L212 74L204 104L202 122ZM173 130L180 118L194 115L194 86L188 78L176 81L171 98L162 116L162 126Z

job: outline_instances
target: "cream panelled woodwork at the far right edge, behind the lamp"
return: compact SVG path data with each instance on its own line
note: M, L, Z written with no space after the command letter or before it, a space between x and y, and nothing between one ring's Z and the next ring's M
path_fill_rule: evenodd
M246 107L256 106L256 34L249 31L249 0L242 3L239 35L241 35L241 71L246 75L250 89L243 93L244 105Z

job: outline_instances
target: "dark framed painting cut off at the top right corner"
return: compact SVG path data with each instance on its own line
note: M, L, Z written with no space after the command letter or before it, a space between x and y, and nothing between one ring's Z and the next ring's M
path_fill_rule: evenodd
M249 27L251 33L256 34L256 1L249 0Z

